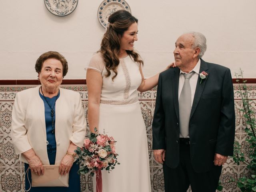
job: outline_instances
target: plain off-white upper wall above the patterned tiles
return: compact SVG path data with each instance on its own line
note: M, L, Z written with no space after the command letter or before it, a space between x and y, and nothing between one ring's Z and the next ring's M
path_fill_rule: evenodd
M203 57L241 67L256 78L255 0L126 0L139 19L135 48L149 77L174 60L174 44L184 32L202 32L208 49ZM56 50L68 60L66 79L85 78L84 66L100 48L105 29L97 18L102 0L79 0L64 17L51 14L44 0L0 0L0 79L36 79L40 54Z

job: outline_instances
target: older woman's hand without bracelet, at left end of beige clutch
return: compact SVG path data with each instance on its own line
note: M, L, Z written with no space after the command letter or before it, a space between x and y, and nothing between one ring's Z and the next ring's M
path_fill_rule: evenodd
M36 156L36 153L33 149L30 149L24 153L22 153L26 160L28 161L29 167L31 169L31 172L34 172L36 175L44 174L44 166L42 164L42 161L38 156Z

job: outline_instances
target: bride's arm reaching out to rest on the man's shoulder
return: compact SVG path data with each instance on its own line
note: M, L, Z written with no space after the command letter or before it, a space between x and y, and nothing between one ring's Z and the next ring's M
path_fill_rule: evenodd
M171 67L175 67L174 62L169 64L163 71L165 71ZM156 75L154 75L148 79L144 79L144 75L142 73L142 68L140 65L140 74L141 74L142 81L141 81L140 86L138 87L139 92L148 91L148 90L154 88L158 84L159 73L157 73Z

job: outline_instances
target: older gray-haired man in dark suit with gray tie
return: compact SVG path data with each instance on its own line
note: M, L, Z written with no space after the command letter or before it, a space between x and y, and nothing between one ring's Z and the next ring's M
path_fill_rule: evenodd
M233 154L234 93L230 69L202 60L206 38L183 34L176 68L159 76L153 120L154 158L163 163L165 192L215 192Z

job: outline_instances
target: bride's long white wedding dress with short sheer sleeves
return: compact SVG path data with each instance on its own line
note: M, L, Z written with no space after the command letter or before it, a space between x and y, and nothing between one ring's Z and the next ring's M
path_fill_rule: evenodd
M102 192L151 192L146 128L137 88L141 83L139 64L130 56L120 58L118 75L105 77L106 68L100 53L87 68L102 74L99 132L116 140L120 165L108 173L102 171ZM95 181L95 179L94 179ZM94 191L96 191L94 182Z

